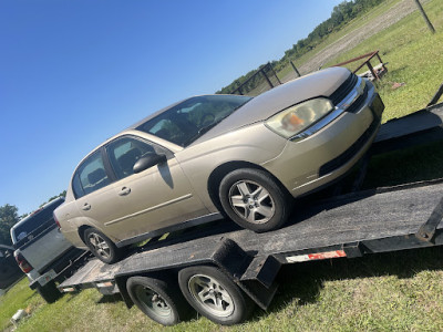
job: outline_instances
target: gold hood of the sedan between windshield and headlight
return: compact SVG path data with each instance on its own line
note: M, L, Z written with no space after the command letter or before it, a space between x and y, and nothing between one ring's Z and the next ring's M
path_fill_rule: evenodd
M274 114L300 102L330 96L350 75L344 68L330 68L296 79L269 90L235 111L192 145L262 122Z

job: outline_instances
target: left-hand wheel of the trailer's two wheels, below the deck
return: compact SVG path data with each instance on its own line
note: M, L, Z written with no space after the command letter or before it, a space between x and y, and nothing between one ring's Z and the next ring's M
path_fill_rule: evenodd
M174 283L147 277L131 277L126 289L134 304L148 318L163 325L175 325L188 317L192 308Z

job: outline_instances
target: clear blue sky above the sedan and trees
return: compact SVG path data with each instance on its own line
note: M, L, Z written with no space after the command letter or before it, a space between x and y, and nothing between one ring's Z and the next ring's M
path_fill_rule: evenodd
M271 60L342 0L1 0L0 206L30 212L132 123Z

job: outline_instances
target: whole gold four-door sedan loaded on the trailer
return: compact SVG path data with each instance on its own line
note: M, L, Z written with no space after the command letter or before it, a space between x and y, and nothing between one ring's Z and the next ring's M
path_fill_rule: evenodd
M383 108L370 82L341 68L257 97L190 97L90 153L54 216L74 246L109 263L122 247L223 217L277 229L292 197L363 156Z

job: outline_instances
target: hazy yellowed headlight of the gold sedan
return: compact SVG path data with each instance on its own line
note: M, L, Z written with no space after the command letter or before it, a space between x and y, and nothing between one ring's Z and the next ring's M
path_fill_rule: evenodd
M310 100L271 116L266 126L278 135L290 138L317 123L333 108L332 102L327 98Z

